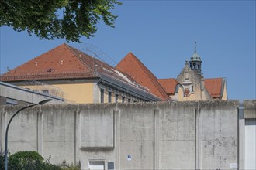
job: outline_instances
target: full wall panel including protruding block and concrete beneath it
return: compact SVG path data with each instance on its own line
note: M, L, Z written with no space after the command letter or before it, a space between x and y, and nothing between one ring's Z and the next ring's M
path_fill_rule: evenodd
M89 160L116 162L114 112L116 104L83 104L78 107L76 162L88 169Z

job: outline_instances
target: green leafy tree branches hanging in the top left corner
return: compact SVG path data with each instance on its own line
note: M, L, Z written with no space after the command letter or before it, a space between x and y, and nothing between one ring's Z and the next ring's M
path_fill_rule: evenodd
M2 0L0 26L11 26L16 31L27 31L40 39L65 38L80 42L81 36L95 36L102 19L114 27L116 15L112 9L116 0Z

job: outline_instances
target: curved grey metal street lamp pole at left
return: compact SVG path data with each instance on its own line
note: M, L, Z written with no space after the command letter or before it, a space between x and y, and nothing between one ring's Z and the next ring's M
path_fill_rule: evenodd
M13 117L15 117L20 111L22 111L26 108L33 107L33 106L36 106L36 105L43 105L43 104L47 103L50 100L52 100L52 99L43 100L43 101L40 101L38 104L32 104L32 105L29 105L29 106L26 106L26 107L22 107L21 109L16 111L15 114L12 115L10 121L7 124L7 128L6 128L6 131L5 131L5 170L8 169L8 157L7 157L7 155L8 155L8 130L9 130L9 126L12 122Z

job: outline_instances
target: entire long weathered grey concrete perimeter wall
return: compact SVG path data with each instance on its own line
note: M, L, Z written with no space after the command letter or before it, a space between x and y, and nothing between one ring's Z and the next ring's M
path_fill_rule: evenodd
M19 107L0 107L0 146ZM138 104L55 104L29 108L9 128L9 151L51 162L114 163L115 169L244 168L244 122L256 100Z

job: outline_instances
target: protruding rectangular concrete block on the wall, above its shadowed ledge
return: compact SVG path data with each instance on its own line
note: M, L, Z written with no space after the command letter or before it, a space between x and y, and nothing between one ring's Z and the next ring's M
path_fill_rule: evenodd
M100 107L99 107L100 106ZM112 105L85 105L81 110L81 148L114 147Z

